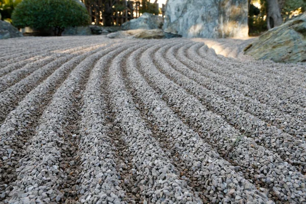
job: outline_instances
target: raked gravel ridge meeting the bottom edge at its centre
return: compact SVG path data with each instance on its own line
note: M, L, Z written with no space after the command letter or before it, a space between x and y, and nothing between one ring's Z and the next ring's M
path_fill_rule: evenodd
M158 141L152 137L145 121L141 118L132 96L124 85L121 66L126 56L135 48L118 55L111 67L109 85L110 100L114 104L116 122L123 132L122 139L127 146L127 153L132 156L132 193L140 194L147 202L198 203L200 199L190 193L186 182L171 164Z

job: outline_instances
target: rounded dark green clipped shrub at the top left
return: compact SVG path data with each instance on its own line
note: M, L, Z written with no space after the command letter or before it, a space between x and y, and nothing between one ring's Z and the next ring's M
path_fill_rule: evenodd
M23 0L15 8L12 21L17 28L53 29L54 35L61 36L67 27L87 25L89 15L74 0Z

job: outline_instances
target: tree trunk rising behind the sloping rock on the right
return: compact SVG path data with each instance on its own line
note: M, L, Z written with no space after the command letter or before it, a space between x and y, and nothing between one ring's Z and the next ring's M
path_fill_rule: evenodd
M267 0L267 3L267 28L270 30L281 25L283 23L283 18L277 0Z

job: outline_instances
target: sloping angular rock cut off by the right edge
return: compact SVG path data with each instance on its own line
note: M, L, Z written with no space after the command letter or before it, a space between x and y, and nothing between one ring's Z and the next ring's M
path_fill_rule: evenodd
M275 27L248 45L245 54L274 62L306 61L306 13Z

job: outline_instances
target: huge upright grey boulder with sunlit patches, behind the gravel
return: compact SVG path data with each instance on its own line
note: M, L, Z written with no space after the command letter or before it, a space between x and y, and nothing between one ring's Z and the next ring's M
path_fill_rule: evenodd
M183 37L248 37L247 0L168 0L165 32Z

